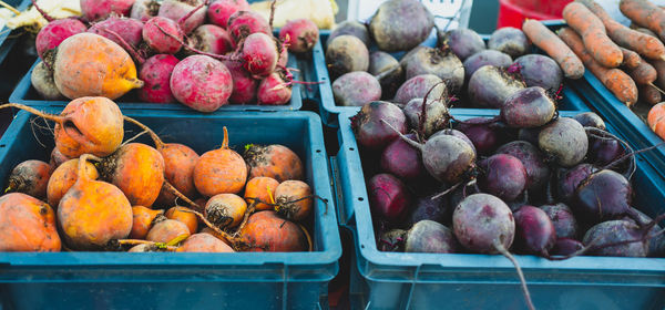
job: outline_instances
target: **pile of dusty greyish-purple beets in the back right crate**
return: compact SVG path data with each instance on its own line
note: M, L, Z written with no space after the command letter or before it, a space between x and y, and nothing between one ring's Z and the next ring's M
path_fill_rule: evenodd
M500 108L508 96L530 86L551 94L560 91L559 64L531 54L522 30L499 29L485 44L473 30L439 29L436 46L420 45L432 32L433 19L420 1L391 0L367 27L340 23L326 42L336 104L385 100L403 106L438 85L432 94L453 95L456 106Z

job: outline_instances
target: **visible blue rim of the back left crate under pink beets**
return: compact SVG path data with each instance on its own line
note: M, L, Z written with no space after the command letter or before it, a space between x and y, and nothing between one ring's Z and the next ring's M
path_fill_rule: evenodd
M19 81L14 91L11 93L11 95L9 97L10 102L21 103L21 104L25 104L25 105L30 105L30 106L64 106L64 105L66 105L69 103L69 101L65 101L65 100L45 101L45 100L41 99L41 96L37 93L34 87L32 86L32 82L30 81L30 74L32 73L32 70L34 69L34 66L40 61L41 60L38 59L34 62L34 64L32 65L32 68L30 68L28 73L25 73L25 75L23 75L23 78ZM294 55L294 54L288 55L287 66L294 68L294 69L299 69L296 55ZM291 74L294 75L295 81L303 80L300 70L291 71ZM301 94L303 86L298 83L293 83L290 85L291 85L291 99L286 105L226 104L226 105L219 107L219 110L213 112L212 114L221 113L221 112L226 113L229 111L268 111L268 112L298 111L303 107L303 94ZM190 108L188 106L181 104L181 103L164 104L164 103L141 102L139 96L135 94L135 91L132 91L129 94L126 94L125 96L115 100L115 102L117 103L120 108L123 111L125 111L125 110L194 111L194 110Z

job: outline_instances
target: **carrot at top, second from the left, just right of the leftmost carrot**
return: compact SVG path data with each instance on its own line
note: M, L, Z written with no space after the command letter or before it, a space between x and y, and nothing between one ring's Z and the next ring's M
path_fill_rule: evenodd
M571 2L563 8L563 18L584 41L584 46L603 66L617 68L623 62L623 53L605 33L605 25L586 7Z

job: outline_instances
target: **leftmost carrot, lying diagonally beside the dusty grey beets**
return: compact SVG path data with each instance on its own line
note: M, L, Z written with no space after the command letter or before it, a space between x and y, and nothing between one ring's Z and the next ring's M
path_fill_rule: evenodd
M580 58L540 21L524 21L522 31L534 45L559 63L565 78L577 80L584 75L584 64Z

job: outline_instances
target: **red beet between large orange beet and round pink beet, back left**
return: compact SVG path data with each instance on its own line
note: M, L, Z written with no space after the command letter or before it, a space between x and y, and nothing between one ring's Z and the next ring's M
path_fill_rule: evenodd
M171 54L156 54L145 61L139 72L139 79L145 84L139 90L142 101L154 103L175 102L171 93L171 73L178 60Z

